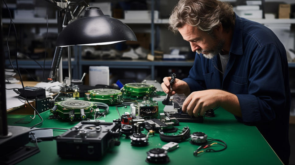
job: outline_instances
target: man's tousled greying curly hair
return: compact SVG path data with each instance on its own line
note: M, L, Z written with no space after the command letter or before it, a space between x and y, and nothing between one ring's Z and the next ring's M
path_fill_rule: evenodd
M226 31L234 27L233 6L218 0L180 0L171 12L169 29L177 33L178 28L188 24L211 33L220 23Z

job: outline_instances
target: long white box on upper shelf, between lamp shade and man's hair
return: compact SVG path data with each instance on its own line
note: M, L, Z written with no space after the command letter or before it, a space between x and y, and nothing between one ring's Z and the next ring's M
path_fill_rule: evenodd
M150 10L125 10L124 11L125 19L151 19L151 11ZM154 11L154 19L159 19L159 12L157 10Z

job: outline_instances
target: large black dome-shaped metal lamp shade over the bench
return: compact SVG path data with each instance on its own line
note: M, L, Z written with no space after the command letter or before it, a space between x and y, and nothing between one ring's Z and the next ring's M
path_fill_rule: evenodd
M105 16L98 7L87 7L85 15L67 27L57 37L56 46L105 45L121 41L137 41L133 31L122 21Z

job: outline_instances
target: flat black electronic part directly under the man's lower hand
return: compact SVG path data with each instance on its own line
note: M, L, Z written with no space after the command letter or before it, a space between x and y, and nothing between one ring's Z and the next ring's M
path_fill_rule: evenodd
M188 113L176 113L176 112L166 112L167 117L175 117L179 122L188 123L203 123L204 116L194 117L190 116Z

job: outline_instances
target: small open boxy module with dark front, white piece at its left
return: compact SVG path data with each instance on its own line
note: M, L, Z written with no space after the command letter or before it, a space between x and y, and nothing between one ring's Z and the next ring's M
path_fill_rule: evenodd
M158 102L144 99L144 101L139 102L137 105L131 104L130 112L134 118L157 117L159 114Z

